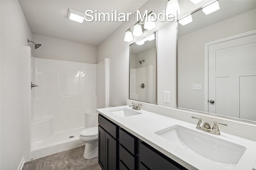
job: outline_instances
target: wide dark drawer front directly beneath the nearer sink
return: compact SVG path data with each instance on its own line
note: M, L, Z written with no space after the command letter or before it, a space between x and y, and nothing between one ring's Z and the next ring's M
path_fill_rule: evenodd
M141 142L139 145L140 163L143 162L150 170L185 170L183 166L161 154L156 149Z

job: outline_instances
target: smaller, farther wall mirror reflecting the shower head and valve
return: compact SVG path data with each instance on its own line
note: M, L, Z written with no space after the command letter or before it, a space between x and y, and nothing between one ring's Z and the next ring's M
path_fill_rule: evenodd
M130 45L129 99L156 104L157 32Z

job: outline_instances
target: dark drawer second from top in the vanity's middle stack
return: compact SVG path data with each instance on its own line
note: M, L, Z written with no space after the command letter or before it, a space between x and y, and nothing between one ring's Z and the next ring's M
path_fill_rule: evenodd
M135 160L134 157L124 149L121 145L119 145L119 158L124 162L124 164L130 169L135 169Z

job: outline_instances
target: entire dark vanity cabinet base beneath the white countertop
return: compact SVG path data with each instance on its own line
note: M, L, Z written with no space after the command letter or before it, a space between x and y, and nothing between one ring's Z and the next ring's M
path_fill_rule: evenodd
M99 114L98 162L102 170L186 170Z

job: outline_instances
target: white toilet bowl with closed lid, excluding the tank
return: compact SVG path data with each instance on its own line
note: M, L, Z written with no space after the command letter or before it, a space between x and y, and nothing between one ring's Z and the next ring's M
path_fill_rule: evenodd
M85 143L84 158L92 159L98 156L98 127L90 127L80 132L80 140Z

